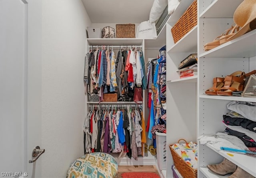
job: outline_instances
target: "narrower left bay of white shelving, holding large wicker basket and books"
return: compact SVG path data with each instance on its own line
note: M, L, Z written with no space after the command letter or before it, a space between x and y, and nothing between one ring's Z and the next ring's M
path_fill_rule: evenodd
M189 54L197 52L198 26L195 26L174 44L171 28L193 0L182 0L166 24L166 145L179 139L196 142L197 76L180 78L178 66ZM172 177L170 149L167 153L166 177Z

